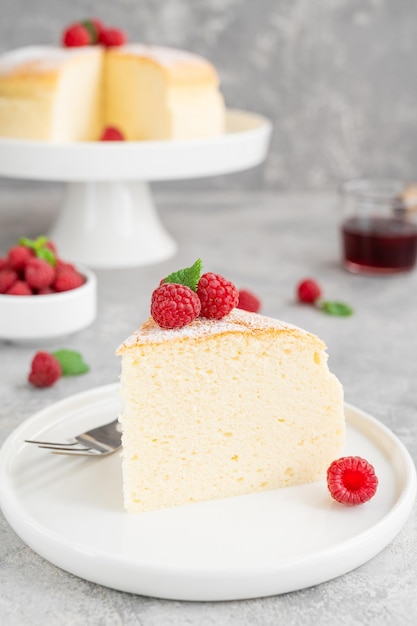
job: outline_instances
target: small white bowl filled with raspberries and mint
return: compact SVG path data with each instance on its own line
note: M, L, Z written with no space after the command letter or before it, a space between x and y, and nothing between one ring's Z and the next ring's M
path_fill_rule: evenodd
M62 337L96 314L94 273L61 259L47 237L23 237L0 255L0 340Z

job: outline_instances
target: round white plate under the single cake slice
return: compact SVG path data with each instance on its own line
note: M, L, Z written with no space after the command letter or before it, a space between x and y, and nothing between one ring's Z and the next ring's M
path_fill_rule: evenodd
M402 443L346 405L346 454L367 458L375 497L334 502L325 481L255 495L128 514L120 456L69 458L25 444L66 437L118 413L117 386L77 394L18 427L0 451L0 504L16 533L58 567L114 589L177 600L274 595L365 563L398 534L416 493Z

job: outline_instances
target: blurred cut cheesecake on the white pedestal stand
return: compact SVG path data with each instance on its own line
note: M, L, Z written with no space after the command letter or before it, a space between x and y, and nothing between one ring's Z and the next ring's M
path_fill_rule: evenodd
M224 132L214 66L158 46L33 46L0 55L0 137L94 141L103 129L131 141Z

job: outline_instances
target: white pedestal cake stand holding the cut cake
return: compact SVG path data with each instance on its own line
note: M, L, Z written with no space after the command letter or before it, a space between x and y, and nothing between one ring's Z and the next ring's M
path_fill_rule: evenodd
M228 110L225 134L187 141L46 143L0 139L0 175L61 181L66 193L48 233L62 258L95 268L144 266L172 256L149 181L227 174L261 163L271 123Z

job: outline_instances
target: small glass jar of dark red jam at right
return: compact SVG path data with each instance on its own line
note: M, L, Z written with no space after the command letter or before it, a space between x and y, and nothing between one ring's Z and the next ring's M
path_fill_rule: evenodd
M413 269L417 259L417 188L396 180L342 185L343 266L361 274Z

